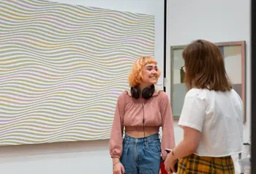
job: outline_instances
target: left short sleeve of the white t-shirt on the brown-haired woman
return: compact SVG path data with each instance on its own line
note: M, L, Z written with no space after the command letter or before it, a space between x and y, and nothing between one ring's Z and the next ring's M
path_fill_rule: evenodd
M206 116L206 102L197 95L186 95L178 126L188 126L202 132Z

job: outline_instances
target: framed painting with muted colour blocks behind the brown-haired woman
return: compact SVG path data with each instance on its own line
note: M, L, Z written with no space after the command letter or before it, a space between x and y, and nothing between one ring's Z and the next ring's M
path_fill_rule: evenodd
M233 88L240 95L245 108L245 41L237 42L216 42L225 58L225 69L233 83ZM171 105L173 117L179 118L184 103L187 88L184 85L184 66L182 52L187 45L175 45L170 47L171 56ZM245 121L244 111L244 121Z

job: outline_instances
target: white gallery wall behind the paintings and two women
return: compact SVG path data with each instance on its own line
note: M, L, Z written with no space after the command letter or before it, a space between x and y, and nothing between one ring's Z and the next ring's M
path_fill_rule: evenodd
M155 53L157 60L163 57L163 4L159 0L61 0L61 3L102 7L110 10L140 12L155 15ZM184 45L193 39L212 42L246 41L246 74L250 68L250 4L249 0L174 1L167 4L167 94L170 96L170 45ZM159 61L162 69L163 61ZM161 81L160 81L161 83ZM162 84L159 84L161 87ZM246 80L246 123L244 142L249 140L250 81ZM176 125L176 143L183 132ZM108 140L51 143L40 145L17 145L0 147L0 168L3 174L91 174L112 173L112 161Z

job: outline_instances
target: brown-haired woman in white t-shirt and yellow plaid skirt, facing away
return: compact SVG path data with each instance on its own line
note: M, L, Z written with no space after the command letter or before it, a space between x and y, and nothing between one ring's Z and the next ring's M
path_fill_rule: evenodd
M168 154L165 169L184 173L235 173L231 155L242 151L243 102L233 90L217 45L203 39L182 53L187 94L178 126L184 139Z

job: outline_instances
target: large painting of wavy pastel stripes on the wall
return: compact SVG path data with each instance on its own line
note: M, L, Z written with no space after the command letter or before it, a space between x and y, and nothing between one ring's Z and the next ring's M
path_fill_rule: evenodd
M0 1L0 145L110 137L118 95L154 56L154 16Z

